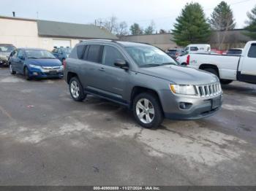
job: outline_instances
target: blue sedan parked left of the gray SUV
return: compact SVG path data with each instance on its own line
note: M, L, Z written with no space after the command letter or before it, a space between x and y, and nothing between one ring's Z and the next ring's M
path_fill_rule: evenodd
M61 61L48 50L19 48L10 55L10 73L23 74L26 79L63 77Z

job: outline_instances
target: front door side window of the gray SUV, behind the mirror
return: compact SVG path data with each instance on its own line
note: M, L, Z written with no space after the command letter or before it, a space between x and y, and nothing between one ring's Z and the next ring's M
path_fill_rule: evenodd
M105 46L103 51L102 63L106 66L115 66L116 59L124 60L123 55L115 47Z

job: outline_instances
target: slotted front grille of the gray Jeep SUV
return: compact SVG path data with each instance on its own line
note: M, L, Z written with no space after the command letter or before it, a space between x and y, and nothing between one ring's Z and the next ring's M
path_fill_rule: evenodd
M197 88L197 94L200 95L200 97L209 97L222 92L222 87L219 83L196 85L195 87Z

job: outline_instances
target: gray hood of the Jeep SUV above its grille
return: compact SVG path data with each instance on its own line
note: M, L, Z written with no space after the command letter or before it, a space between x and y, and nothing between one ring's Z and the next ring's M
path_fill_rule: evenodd
M178 85L205 85L219 81L218 77L214 74L207 71L188 68L186 66L156 66L140 68L138 69L138 72L166 79Z

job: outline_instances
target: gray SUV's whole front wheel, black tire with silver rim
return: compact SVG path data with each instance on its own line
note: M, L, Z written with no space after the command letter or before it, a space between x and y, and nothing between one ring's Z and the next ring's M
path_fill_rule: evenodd
M135 120L144 128L157 128L164 119L162 107L153 93L140 93L133 101Z

